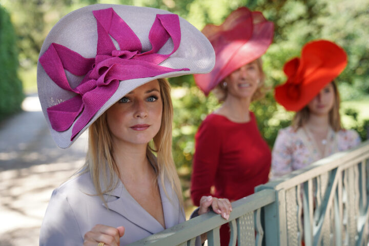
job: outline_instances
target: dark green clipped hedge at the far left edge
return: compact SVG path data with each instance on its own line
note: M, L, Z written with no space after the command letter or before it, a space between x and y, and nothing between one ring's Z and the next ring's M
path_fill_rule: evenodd
M17 69L15 32L8 12L0 5L0 120L20 110L24 96Z

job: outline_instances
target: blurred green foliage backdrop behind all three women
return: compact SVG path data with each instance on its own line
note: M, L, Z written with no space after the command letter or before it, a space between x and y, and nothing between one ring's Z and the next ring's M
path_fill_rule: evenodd
M259 129L272 148L278 130L293 116L277 105L273 87L285 80L286 60L299 56L302 46L314 39L329 39L342 46L348 65L337 78L345 128L355 129L362 140L369 127L369 1L368 0L1 0L0 2L0 127L22 112L25 96L34 94L36 64L43 40L65 14L96 3L146 6L169 10L201 30L207 23L221 24L240 6L261 11L274 22L274 42L263 55L263 69L271 88L264 99L251 105ZM173 155L191 210L189 186L194 135L200 122L218 107L205 97L191 76L171 78L175 109ZM5 139L0 139L4 141ZM1 160L0 160L1 161Z

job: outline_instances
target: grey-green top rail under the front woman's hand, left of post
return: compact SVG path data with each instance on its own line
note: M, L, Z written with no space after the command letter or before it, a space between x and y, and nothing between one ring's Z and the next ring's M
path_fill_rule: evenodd
M223 219L219 214L206 213L190 219L174 227L153 234L147 238L129 244L129 246L148 245L178 245L190 240L224 223L232 221L246 213L255 211L275 201L273 190L263 190L250 196L232 202L232 212L229 220Z

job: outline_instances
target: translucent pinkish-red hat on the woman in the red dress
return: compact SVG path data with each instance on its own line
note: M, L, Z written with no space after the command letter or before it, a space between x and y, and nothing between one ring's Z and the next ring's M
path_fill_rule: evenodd
M246 7L233 11L220 26L207 25L202 33L215 50L215 67L207 74L194 75L196 85L206 94L224 78L259 58L272 43L274 24L261 12Z

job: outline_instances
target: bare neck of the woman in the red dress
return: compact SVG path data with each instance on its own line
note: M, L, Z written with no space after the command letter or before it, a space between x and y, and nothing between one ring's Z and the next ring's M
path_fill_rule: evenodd
M238 122L250 120L249 107L251 97L238 98L228 94L226 100L219 109L219 113L227 116L229 119Z

